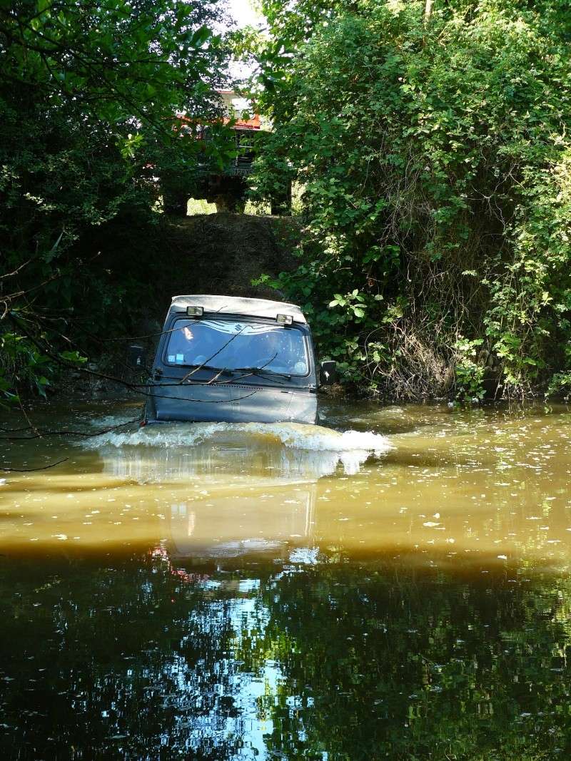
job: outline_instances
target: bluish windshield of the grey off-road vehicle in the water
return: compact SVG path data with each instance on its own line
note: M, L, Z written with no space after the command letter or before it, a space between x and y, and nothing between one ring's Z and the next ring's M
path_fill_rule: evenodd
M169 365L307 375L305 337L296 328L229 320L177 320L168 339Z

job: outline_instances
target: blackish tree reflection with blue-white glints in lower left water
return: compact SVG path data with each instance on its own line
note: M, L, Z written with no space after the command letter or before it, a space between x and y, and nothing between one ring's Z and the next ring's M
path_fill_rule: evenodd
M208 573L180 581L150 555L41 572L18 564L14 575L15 598L14 588L2 591L16 600L0 634L10 654L5 757L239 754L251 712L236 703L244 680L232 642L242 604L212 595Z

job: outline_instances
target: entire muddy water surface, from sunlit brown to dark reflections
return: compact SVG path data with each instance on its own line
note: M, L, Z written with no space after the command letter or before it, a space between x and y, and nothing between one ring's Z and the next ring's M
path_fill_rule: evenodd
M138 413L2 442L5 757L571 756L568 408Z

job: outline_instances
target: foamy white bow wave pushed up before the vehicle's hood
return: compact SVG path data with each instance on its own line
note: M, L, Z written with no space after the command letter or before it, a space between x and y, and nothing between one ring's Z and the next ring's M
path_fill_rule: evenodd
M244 473L255 468L260 453L273 477L317 479L333 473L339 463L353 475L369 457L393 448L387 438L372 432L301 423L225 422L108 431L78 444L97 450L108 472L143 482L224 470Z

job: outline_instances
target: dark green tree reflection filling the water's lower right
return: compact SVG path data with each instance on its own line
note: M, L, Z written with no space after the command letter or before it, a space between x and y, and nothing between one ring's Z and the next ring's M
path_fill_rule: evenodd
M270 581L276 757L569 757L569 581L325 565ZM255 664L257 653L252 653ZM270 754L271 755L271 754Z

